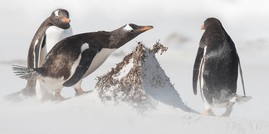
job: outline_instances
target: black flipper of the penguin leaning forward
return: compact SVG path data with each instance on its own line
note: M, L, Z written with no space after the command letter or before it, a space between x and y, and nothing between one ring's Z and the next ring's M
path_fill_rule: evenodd
M90 67L91 62L96 54L97 54L97 51L94 49L85 49L81 53L80 63L77 66L75 73L69 80L64 82L62 85L65 87L71 87L72 85L77 84L77 82L79 82L80 79L82 79L83 75L86 73L86 71Z

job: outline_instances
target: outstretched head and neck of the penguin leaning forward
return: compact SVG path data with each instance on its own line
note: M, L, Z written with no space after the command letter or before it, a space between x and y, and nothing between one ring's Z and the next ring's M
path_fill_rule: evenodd
M125 43L129 42L136 36L140 35L143 32L146 32L149 29L152 29L153 26L138 26L136 24L126 24L119 29L111 31L111 48L119 48Z

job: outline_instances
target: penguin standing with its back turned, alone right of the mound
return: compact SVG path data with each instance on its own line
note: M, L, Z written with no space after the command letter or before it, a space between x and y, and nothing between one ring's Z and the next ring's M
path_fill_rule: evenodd
M208 18L201 27L205 32L200 40L197 56L193 67L192 87L197 94L198 81L204 101L205 113L214 116L212 107L226 107L221 116L230 116L235 102L241 104L251 99L250 96L236 94L239 56L233 40L216 18Z

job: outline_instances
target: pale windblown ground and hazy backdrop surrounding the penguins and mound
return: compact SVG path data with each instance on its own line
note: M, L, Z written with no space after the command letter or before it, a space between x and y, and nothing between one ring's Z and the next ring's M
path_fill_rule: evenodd
M266 0L192 1L1 1L0 2L0 133L268 133L269 132L269 2ZM198 91L192 92L192 68L203 34L204 20L218 18L236 44L246 95L253 99L234 105L230 118L204 117L158 103L157 110L137 114L126 104L105 105L91 94L64 102L37 104L33 99L13 104L3 96L20 91L11 65L26 66L30 41L53 10L64 8L71 18L73 33L117 29L124 24L152 25L151 29L115 51L106 62L82 82L93 90L100 76L130 53L137 41L152 46L160 39L168 51L156 57L187 106L204 112ZM238 94L242 95L240 79ZM64 97L74 90L64 88ZM213 109L220 114L225 109Z

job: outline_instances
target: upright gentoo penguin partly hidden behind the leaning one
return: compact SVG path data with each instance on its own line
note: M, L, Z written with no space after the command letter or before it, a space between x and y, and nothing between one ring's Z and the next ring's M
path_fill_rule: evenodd
M73 32L70 27L69 13L64 9L53 11L51 16L41 24L33 37L28 51L27 67L40 67L52 47L60 40L71 35L73 35ZM36 96L39 102L43 102L43 99L51 96L51 93L40 84L39 80L32 79L27 80L27 85L24 89L7 95L5 98L13 102L19 102L32 96Z

